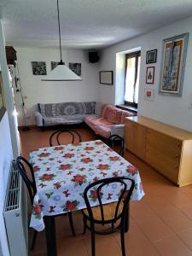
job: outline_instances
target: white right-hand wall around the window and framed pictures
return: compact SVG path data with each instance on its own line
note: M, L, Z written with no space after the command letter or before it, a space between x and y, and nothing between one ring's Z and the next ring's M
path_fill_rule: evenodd
M148 32L140 37L132 38L120 44L116 44L108 49L102 51L100 70L113 70L115 76L116 70L116 54L125 50L135 49L141 47L142 62L140 73L140 85L139 85L139 102L138 102L138 114L146 116L151 119L160 120L166 124L175 125L185 130L192 131L192 108L189 108L189 98L192 94L192 17L179 20L169 26L164 26L153 32ZM178 96L165 96L158 93L160 83L160 61L162 56L162 40L164 38L170 38L175 35L189 32L189 44L187 51L187 60L185 66L184 80L183 80L183 95ZM144 89L149 88L145 83L146 67L145 58L146 51L149 49L158 49L157 62L151 66L155 67L154 76L154 101L149 102L144 100ZM120 59L120 57L119 57ZM150 65L148 65L149 67ZM120 69L123 67L117 67L117 72L120 73ZM117 74L118 74L117 73ZM114 85L106 86L99 85L99 101L101 102L113 102L119 103L115 98L115 90L118 94L123 92L124 84L119 76L114 77ZM151 86L152 87L152 86ZM150 87L150 88L151 88ZM117 95L117 94L116 94ZM121 97L122 99L122 97Z

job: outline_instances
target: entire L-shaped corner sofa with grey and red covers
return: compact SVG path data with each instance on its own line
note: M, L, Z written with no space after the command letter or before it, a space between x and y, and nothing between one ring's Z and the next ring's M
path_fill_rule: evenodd
M125 117L133 115L135 114L101 102L38 103L35 119L40 128L85 122L101 137L113 134L124 137Z

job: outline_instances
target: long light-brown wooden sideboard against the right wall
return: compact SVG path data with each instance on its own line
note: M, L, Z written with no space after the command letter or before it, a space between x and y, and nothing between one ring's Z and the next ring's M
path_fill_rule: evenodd
M125 146L178 186L192 184L192 132L142 116L129 117Z

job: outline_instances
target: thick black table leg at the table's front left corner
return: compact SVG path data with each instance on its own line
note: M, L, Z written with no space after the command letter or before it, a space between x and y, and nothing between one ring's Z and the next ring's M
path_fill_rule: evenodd
M56 237L55 237L55 218L46 216L44 217L47 256L56 256Z

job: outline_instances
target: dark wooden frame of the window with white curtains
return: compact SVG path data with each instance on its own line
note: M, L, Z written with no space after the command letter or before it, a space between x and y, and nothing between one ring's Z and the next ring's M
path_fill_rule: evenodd
M134 85L134 90L136 87L136 82L137 82L137 70L138 70L138 57L141 56L141 50L135 51L135 52L131 52L129 54L125 55L125 80L126 80L126 68L127 68L127 59L132 58L132 57L136 57L136 71L135 71L135 85ZM125 89L126 89L126 83L125 83ZM126 106L131 106L134 108L137 108L137 103L135 102L127 102L124 101L124 104Z

